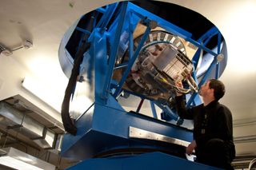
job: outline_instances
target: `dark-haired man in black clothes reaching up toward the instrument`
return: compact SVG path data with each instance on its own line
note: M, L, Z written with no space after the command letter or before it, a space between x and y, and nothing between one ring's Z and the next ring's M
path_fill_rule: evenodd
M218 103L224 94L222 81L210 79L199 90L202 105L186 109L182 95L177 93L177 112L183 119L194 120L194 140L186 153L190 155L195 150L199 163L234 169L230 165L235 156L232 115L230 109Z

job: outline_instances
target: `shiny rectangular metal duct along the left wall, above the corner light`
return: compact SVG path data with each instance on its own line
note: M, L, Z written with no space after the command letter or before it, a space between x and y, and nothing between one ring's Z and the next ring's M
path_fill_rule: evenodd
M27 136L42 148L53 148L54 132L50 132L43 125L26 116L25 113L13 109L5 102L0 102L0 125L13 129Z

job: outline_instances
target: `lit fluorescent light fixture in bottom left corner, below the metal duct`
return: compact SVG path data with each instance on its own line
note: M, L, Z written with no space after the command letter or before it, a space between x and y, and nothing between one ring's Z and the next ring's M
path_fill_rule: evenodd
M54 170L55 166L46 161L39 160L16 148L2 148L0 164L10 168L26 170ZM4 154L5 153L5 154Z

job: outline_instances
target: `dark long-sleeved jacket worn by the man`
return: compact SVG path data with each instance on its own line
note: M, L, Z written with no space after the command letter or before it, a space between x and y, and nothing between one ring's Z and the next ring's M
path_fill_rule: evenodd
M233 121L230 109L218 101L186 109L183 97L176 97L176 105L179 117L194 121L194 140L197 148L203 148L211 139L221 139L230 147L231 157L234 158Z

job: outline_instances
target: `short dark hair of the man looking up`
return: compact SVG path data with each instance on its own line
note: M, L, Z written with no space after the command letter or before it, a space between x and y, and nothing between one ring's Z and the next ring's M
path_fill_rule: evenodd
M219 81L217 79L210 79L209 81L209 88L214 89L214 98L216 101L218 101L224 96L226 92L225 85L222 83L222 81Z

